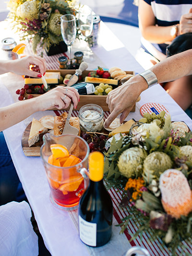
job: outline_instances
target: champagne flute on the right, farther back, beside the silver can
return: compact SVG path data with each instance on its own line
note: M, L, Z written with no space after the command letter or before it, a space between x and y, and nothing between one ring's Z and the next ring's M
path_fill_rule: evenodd
M83 5L79 8L78 12L78 28L81 31L82 37L87 41L87 38L91 36L93 30L93 12L92 9ZM88 43L87 43L88 45ZM84 57L88 58L92 54L92 51L89 47L88 50L84 52Z

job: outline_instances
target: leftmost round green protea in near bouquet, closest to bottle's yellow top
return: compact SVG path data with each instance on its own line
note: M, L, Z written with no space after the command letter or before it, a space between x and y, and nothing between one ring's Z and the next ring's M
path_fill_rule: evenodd
M130 147L123 151L118 161L118 168L120 173L130 178L132 176L138 176L142 171L144 158L147 153L140 147Z

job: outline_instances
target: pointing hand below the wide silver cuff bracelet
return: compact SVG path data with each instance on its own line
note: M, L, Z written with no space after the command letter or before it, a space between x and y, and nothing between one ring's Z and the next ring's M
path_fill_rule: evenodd
M142 76L137 75L110 91L106 100L110 115L105 122L105 127L107 128L120 113L120 123L122 123L145 89L147 89L146 81Z

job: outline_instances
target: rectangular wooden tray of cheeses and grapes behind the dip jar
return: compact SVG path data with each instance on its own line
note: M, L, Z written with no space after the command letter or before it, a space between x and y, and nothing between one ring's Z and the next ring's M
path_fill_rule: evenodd
M75 70L47 70L47 72L60 72L62 77L65 77L66 74L74 74ZM91 70L85 70L82 74L83 77L87 76ZM134 71L126 71L127 74L133 74ZM117 86L115 86L117 87ZM39 94L33 94L34 97L39 96ZM80 110L82 106L86 104L96 104L102 107L104 111L109 111L108 104L106 103L107 95L80 95L80 102L77 105L76 110ZM53 109L57 110L57 109ZM69 110L69 108L67 109ZM135 105L133 106L131 112L135 111Z

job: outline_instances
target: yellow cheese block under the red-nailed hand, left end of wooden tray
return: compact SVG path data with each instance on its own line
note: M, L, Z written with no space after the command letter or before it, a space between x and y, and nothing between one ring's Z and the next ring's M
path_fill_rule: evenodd
M60 72L46 72L44 75L46 81L48 84L58 84L58 80L60 79ZM25 85L37 85L37 84L43 84L41 78L24 78L24 84Z

